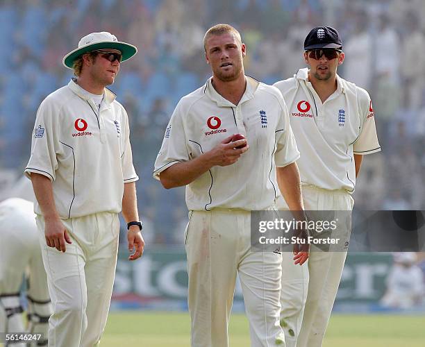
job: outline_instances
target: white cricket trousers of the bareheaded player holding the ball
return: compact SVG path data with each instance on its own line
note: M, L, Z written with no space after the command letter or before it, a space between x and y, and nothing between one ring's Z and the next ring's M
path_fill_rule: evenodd
M251 251L251 214L190 211L185 232L192 347L227 347L236 275L249 320L251 346L285 346L279 325L280 253Z

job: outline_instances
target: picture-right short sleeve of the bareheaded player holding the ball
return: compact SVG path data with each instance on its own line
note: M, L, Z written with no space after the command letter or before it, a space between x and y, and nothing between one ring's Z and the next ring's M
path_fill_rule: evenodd
M281 115L275 132L277 149L274 154L274 161L276 162L276 167L285 167L299 159L299 151L294 133L292 133L288 108L283 97L280 103Z

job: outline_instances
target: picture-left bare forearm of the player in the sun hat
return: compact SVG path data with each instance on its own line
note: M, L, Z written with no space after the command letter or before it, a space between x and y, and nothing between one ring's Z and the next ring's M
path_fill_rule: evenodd
M59 219L60 217L53 199L51 180L46 176L32 173L31 183L33 183L35 198L37 198L44 219Z

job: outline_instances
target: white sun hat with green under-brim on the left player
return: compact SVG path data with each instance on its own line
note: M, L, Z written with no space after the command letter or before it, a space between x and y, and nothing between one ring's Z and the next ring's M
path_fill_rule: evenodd
M107 31L101 31L101 33L91 33L84 36L80 42L78 42L78 48L63 57L63 65L72 69L72 65L77 58L83 56L84 53L97 51L98 49L117 49L121 51L122 62L130 59L138 52L138 49L133 46L133 44L119 42L115 35Z

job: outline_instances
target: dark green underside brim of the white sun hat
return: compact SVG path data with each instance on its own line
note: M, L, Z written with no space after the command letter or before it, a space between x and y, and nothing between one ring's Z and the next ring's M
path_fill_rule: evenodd
M98 49L117 49L122 53L122 62L130 59L135 53L138 53L138 49L133 46L133 44L128 44L126 42L118 42L118 41L104 41L104 42L96 42L94 44L88 44L87 46L83 46L81 48L74 49L74 51L69 52L65 57L63 57L63 65L65 67L72 69L72 65L74 65L74 61L83 56L83 54L97 51Z

